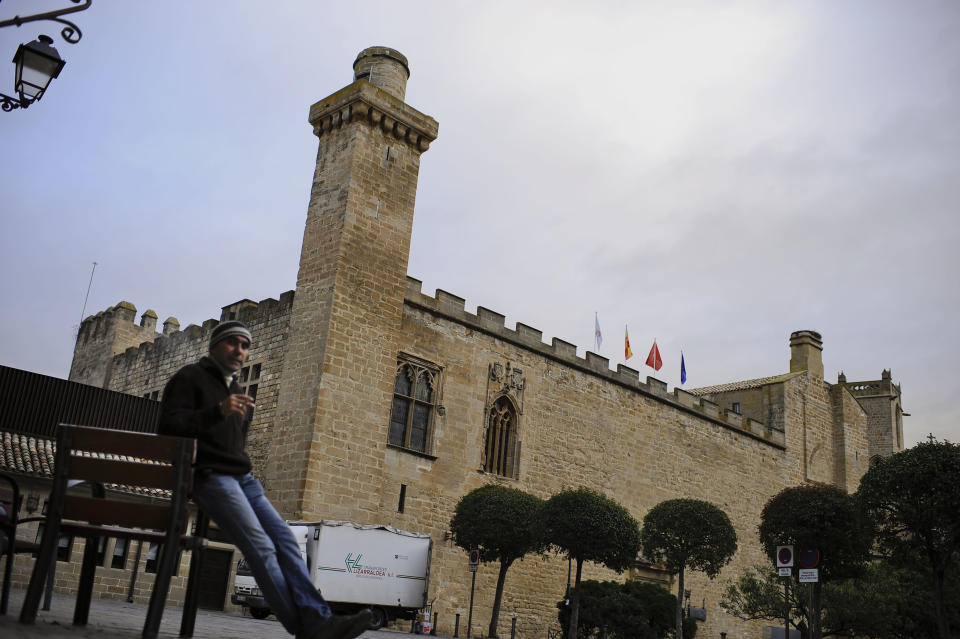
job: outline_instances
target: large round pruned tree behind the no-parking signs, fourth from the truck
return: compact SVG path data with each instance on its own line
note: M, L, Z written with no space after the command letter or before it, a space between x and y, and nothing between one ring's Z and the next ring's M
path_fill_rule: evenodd
M836 486L785 488L763 507L758 532L771 565L780 545L793 545L798 553L804 548L820 552L807 625L811 639L821 639L823 583L859 575L870 558L873 531L857 501Z

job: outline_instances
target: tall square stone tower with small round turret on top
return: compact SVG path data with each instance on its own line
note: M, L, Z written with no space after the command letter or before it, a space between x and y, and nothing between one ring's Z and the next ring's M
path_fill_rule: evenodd
M420 155L437 122L404 103L407 59L360 52L310 108L320 140L265 483L285 517L375 512Z

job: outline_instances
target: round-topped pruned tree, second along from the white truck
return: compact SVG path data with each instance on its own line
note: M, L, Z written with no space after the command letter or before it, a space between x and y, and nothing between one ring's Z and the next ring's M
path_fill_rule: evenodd
M546 540L577 563L570 596L569 639L576 639L580 614L580 577L583 562L603 564L623 572L640 551L640 526L630 512L589 488L560 491L543 507Z

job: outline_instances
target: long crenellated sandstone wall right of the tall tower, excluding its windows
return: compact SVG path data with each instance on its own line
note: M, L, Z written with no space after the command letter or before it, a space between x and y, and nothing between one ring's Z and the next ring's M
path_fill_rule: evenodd
M448 613L448 621L456 612L466 615L469 602L465 554L445 540L453 508L466 492L502 482L541 497L564 487L590 486L625 505L638 520L655 504L674 497L718 505L734 522L740 550L718 580L709 582L693 573L687 587L695 602L706 600L709 620L701 628L705 636L715 636L720 629L751 628L720 611L721 584L766 561L756 526L760 509L772 495L805 478L833 483L835 429L827 385L806 374L781 383L784 433L742 415L721 413L715 404L682 391L668 394L662 382L648 378L642 383L637 372L626 367L610 371L607 361L593 354L577 358L573 345L559 340L544 344L536 329L522 324L506 329L502 316L486 309L466 313L462 300L442 291L435 298L424 296L415 280L409 285L404 351L442 367L443 414L434 423L433 456L387 446L386 414L382 423L370 425L380 438L377 449L384 460L378 521L433 536L430 597ZM521 369L525 380L516 479L480 470L490 399L487 376L489 365L497 362ZM864 431L863 424L857 427ZM854 439L849 447L851 454L865 459L865 438ZM322 462L320 467L324 472ZM854 465L851 472L865 469ZM335 495L336 489L326 484L336 485L336 469L326 472L320 491ZM406 506L398 513L401 485L406 487ZM356 514L348 503L324 496L317 501L330 504L325 505L330 516ZM555 623L554 605L564 592L566 568L566 561L557 557L528 558L515 565L507 580L500 631L509 632L514 615L525 635ZM615 575L588 565L584 578ZM481 567L475 620L489 619L495 579L494 566Z

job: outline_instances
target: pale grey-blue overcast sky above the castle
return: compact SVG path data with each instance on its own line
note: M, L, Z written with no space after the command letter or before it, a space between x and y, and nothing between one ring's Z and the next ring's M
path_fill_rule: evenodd
M5 0L0 19L62 1ZM70 16L67 16L70 18ZM960 3L110 2L0 113L0 363L65 377L86 315L183 327L296 285L314 102L407 56L440 134L409 274L643 363L671 388L786 372L900 383L908 444L960 441ZM2 62L2 60L0 60ZM6 64L6 63L4 63ZM0 71L13 92L13 65Z

